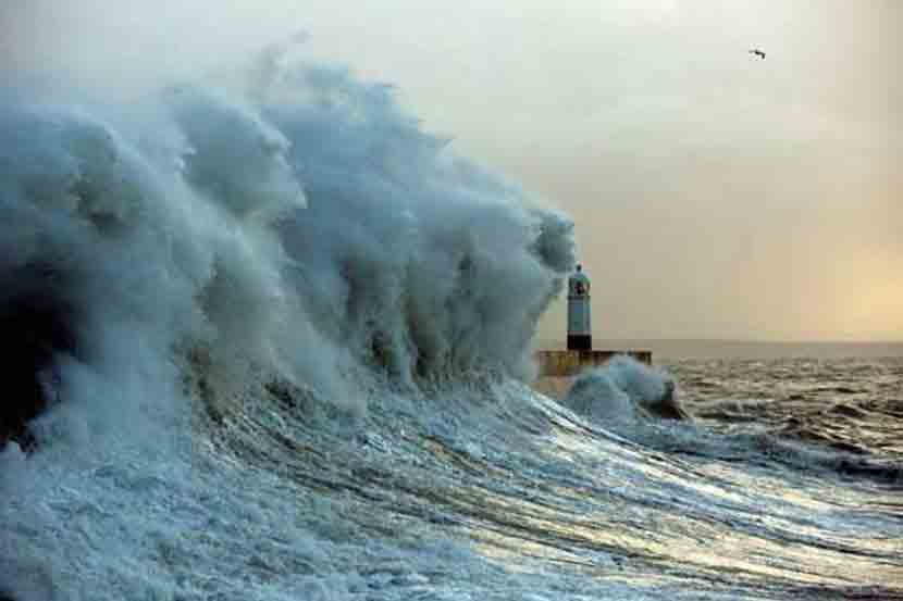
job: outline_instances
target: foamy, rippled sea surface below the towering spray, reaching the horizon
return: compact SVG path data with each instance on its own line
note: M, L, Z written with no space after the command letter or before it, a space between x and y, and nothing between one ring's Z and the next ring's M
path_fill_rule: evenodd
M8 450L14 599L900 599L903 359L680 361L693 418L493 378L341 425L262 386L190 445ZM603 368L598 402L661 373ZM645 378L645 379L642 379ZM611 390L630 399L616 399ZM338 423L334 421L338 420ZM8 483L9 484L9 483Z

